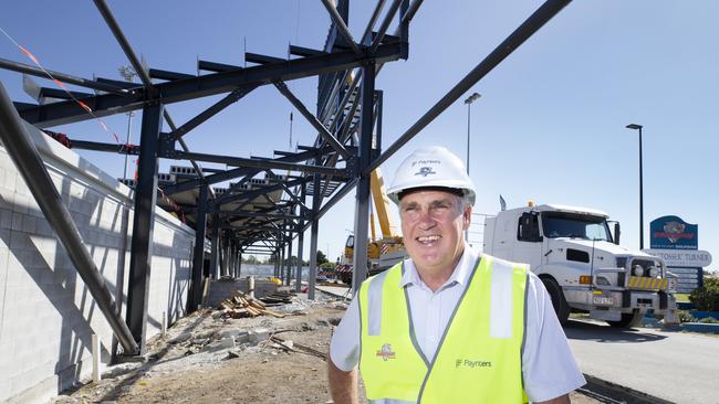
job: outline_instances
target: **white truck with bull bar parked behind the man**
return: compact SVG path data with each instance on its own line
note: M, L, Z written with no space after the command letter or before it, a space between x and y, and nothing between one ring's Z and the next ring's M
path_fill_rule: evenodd
M575 311L633 327L648 309L676 322L676 277L661 258L621 247L619 223L613 235L607 219L593 209L530 202L486 219L483 251L529 264L562 325Z

